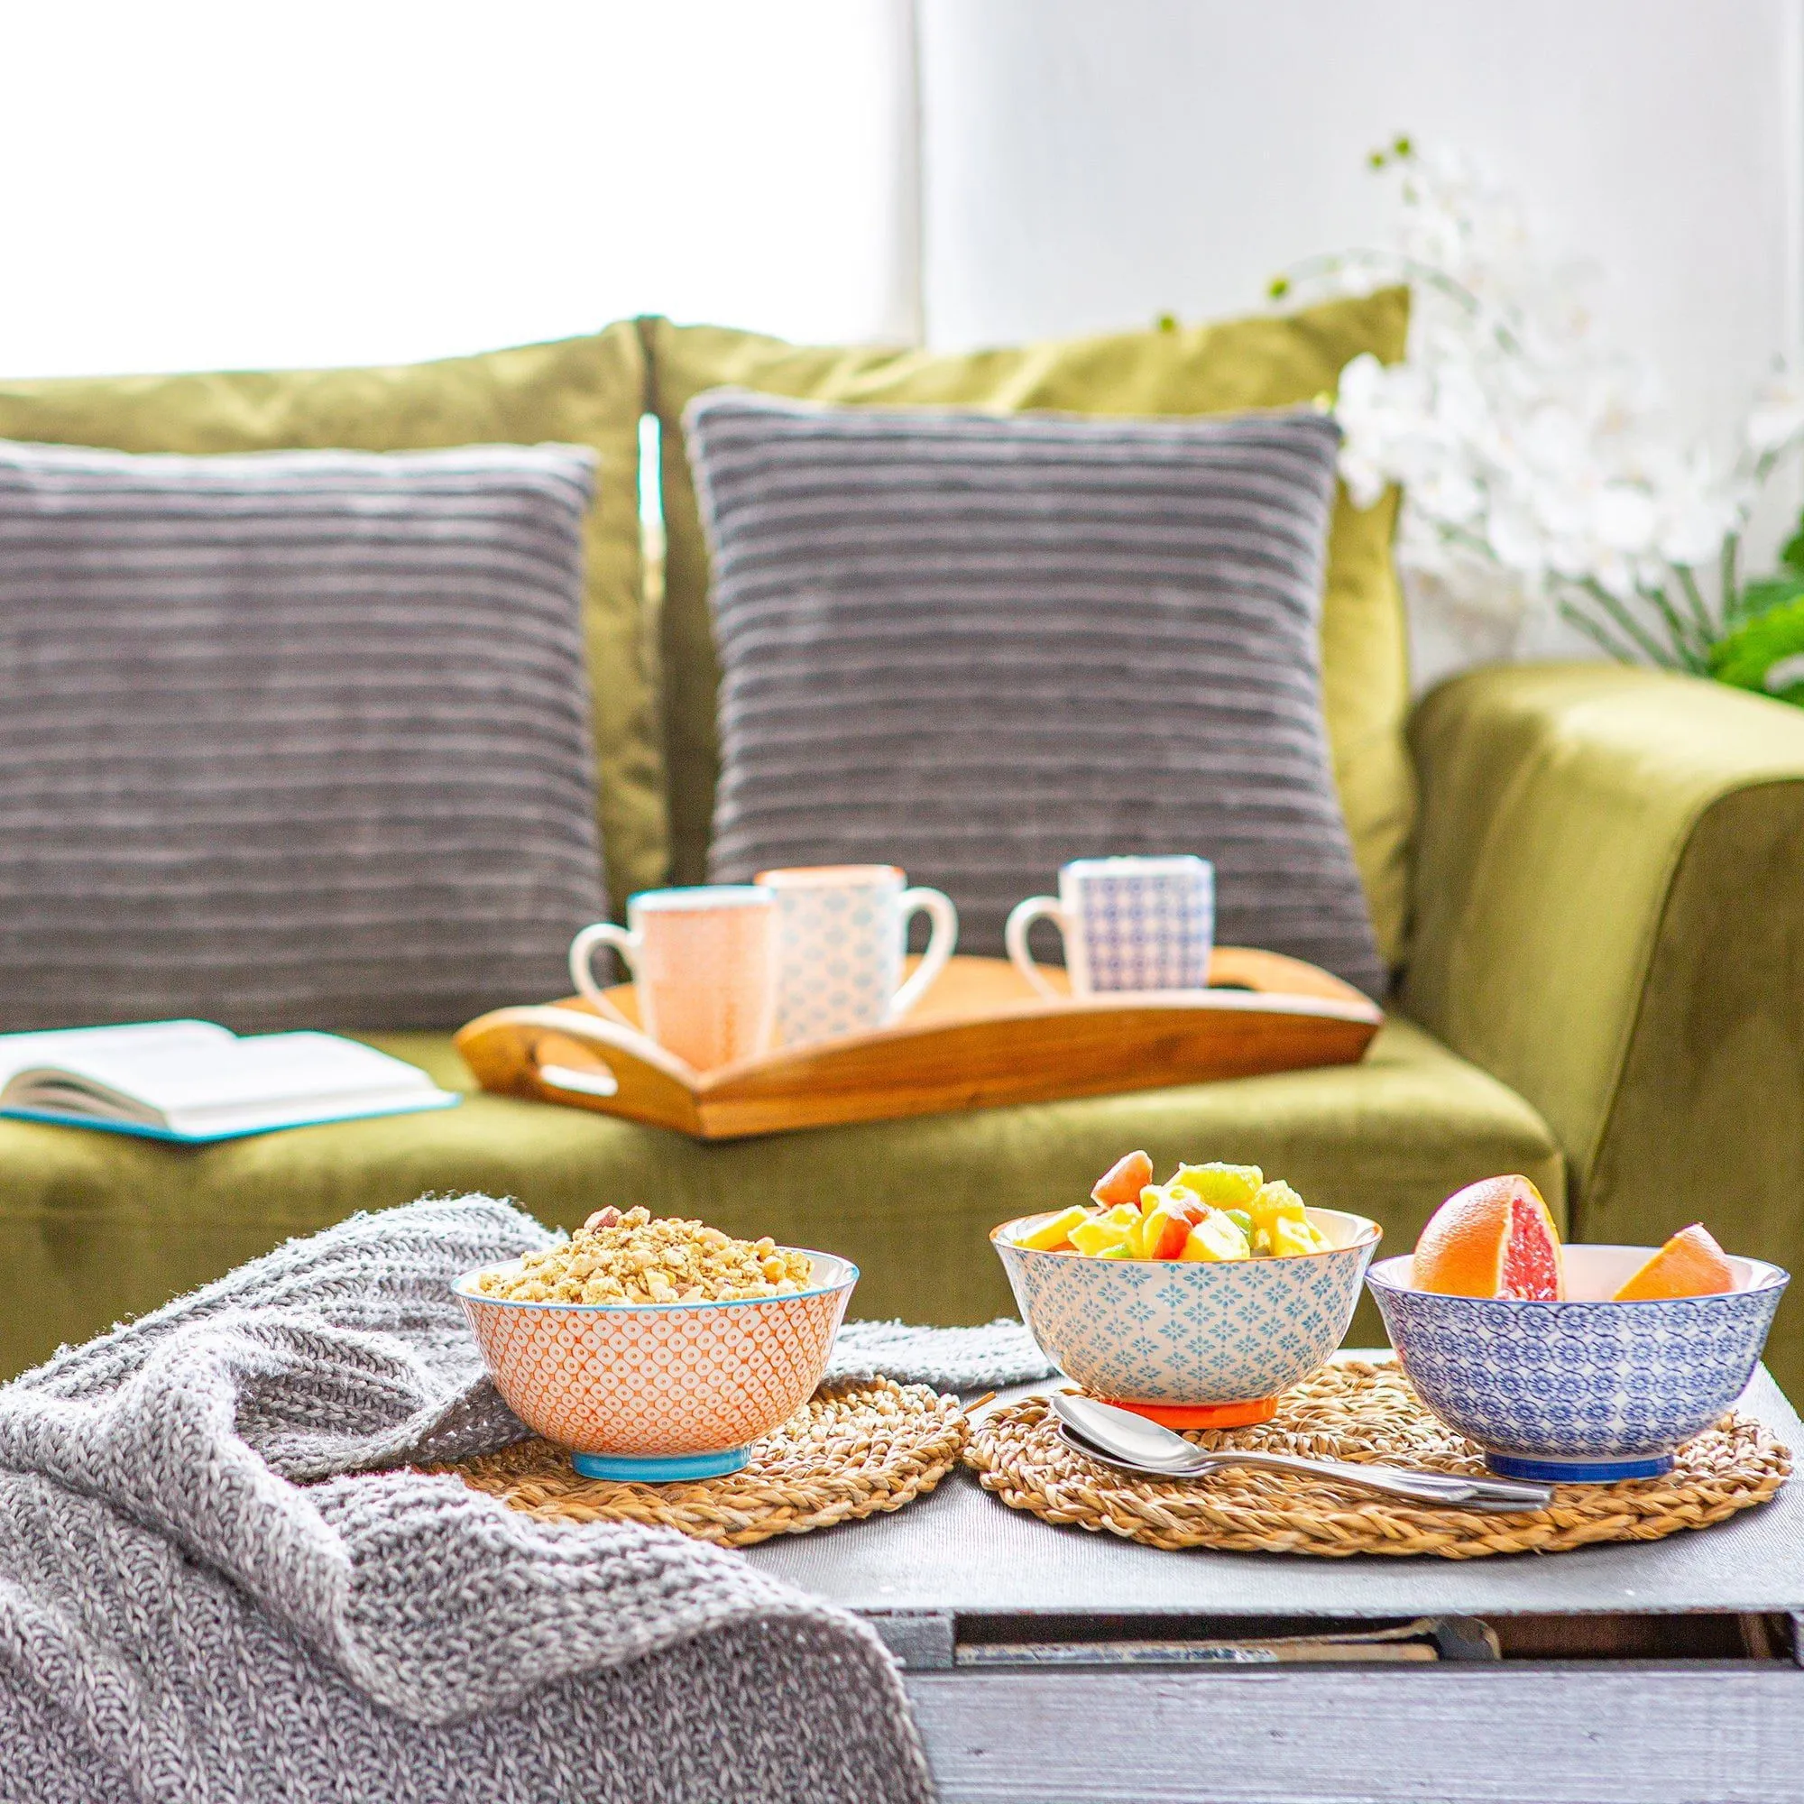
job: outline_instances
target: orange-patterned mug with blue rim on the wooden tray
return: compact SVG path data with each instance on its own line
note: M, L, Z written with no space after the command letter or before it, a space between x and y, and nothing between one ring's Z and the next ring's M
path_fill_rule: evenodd
M570 980L601 1014L633 1023L595 981L595 947L612 945L633 972L639 1026L698 1072L770 1046L776 1017L776 897L756 884L644 889L630 927L599 920L570 942Z

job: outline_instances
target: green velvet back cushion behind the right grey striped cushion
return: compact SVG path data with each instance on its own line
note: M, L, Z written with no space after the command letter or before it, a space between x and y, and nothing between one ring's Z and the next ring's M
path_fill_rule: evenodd
M1290 316L1230 319L1171 332L1117 332L1016 350L785 345L725 327L644 319L648 375L664 429L666 758L676 882L702 882L714 808L714 640L707 548L682 446L682 410L722 384L797 400L864 406L1032 408L1070 413L1236 413L1310 402L1373 352L1404 354L1409 290L1384 289ZM1414 776L1404 745L1409 655L1391 566L1396 496L1360 512L1340 494L1322 597L1322 700L1335 781L1373 929L1385 960L1402 958L1405 853ZM1198 848L1207 850L1207 848Z

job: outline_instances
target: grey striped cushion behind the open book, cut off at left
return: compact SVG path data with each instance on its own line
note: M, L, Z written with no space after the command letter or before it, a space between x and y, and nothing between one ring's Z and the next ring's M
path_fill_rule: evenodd
M0 444L0 1028L437 1026L603 909L594 455Z

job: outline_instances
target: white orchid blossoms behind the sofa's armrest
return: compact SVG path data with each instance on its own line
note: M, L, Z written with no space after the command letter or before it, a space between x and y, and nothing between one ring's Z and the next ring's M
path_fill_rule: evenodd
M1674 437L1652 370L1604 343L1595 272L1548 258L1470 159L1396 146L1378 162L1400 175L1396 262L1310 265L1340 292L1413 289L1405 361L1340 372L1353 502L1404 487L1405 574L1431 572L1476 606L1559 606L1616 655L1707 667L1714 626L1694 572L1714 583L1721 566L1734 588L1759 483L1804 446L1804 381L1768 381L1744 453L1719 469Z

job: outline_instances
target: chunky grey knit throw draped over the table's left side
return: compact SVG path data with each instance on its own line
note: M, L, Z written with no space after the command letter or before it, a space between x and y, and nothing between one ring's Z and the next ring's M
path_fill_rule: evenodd
M548 1238L483 1196L357 1216L0 1389L0 1797L931 1795L853 1616L391 1470L523 1432L447 1283Z

